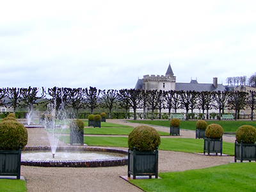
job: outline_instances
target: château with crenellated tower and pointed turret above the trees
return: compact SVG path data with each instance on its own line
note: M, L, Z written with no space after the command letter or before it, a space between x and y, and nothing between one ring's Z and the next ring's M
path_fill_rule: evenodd
M218 78L213 77L212 83L198 83L197 80L191 79L190 83L176 83L176 77L173 74L171 65L169 64L165 76L145 75L143 79L138 79L136 90L177 90L195 91L195 92L225 92L225 86L218 84Z

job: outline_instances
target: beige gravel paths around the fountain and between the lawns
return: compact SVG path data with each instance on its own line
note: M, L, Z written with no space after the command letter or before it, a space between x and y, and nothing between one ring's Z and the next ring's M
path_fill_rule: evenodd
M124 120L107 120L116 124L136 127L138 124ZM168 132L168 128L154 126L159 131ZM44 129L28 129L28 146L49 145ZM180 131L175 138L195 138L195 131ZM224 141L234 142L234 136L224 136ZM60 142L60 145L67 145ZM184 170L206 168L234 161L234 157L201 156L182 152L159 150L159 172L180 172ZM200 163L198 163L200 162ZM29 191L142 191L120 176L127 175L127 166L106 168L43 168L22 166L21 175L25 177Z

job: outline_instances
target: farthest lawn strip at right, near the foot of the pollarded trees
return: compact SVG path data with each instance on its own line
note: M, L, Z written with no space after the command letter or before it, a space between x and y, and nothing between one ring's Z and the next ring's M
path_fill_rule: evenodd
M129 120L132 123L159 125L170 127L170 120ZM256 127L255 121L249 120L206 120L207 124L219 124L224 129L224 132L236 132L241 125L252 125ZM180 120L180 129L195 130L196 120Z

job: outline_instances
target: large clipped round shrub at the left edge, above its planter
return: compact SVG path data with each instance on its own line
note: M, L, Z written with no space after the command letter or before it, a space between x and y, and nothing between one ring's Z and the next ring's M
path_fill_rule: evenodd
M19 150L28 143L28 131L16 120L6 120L0 124L0 150Z

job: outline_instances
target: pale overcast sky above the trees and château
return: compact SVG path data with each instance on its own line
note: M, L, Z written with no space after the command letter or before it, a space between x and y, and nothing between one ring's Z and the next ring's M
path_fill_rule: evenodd
M256 1L4 1L0 87L227 84L256 72Z

